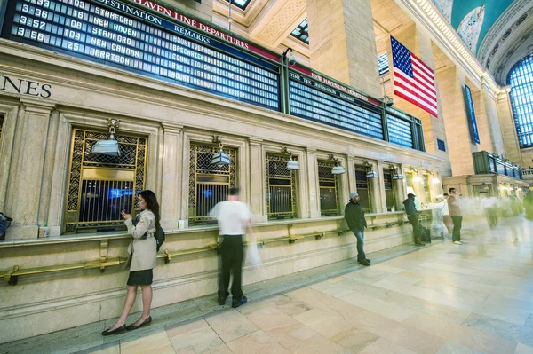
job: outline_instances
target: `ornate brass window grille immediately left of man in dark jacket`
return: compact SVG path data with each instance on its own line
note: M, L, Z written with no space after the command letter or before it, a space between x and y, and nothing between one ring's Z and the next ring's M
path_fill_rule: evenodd
M318 161L318 185L320 188L320 212L322 216L338 215L338 183L331 169L333 161Z

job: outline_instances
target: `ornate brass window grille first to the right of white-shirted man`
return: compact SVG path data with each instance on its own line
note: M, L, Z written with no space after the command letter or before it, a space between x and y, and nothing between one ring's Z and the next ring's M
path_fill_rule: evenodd
M292 157L298 161L296 157ZM297 215L296 171L287 170L287 156L267 153L267 213L269 219Z

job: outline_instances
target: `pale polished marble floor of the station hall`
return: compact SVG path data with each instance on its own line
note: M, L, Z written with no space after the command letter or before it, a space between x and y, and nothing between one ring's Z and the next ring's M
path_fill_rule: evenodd
M0 353L533 353L533 222L476 223L462 246L406 245L368 255L370 267L348 260L253 284L238 309L205 296L155 309L131 333L102 337L107 320Z

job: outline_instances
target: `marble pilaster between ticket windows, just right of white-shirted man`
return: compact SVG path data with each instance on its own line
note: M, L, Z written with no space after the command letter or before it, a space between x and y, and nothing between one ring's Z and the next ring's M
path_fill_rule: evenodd
M249 138L250 144L250 208L253 223L267 221L265 209L265 157L263 156L263 140Z

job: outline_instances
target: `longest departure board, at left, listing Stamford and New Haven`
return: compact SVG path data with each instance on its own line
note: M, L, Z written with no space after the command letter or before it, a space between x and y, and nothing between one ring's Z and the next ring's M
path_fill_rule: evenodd
M11 0L2 35L279 110L279 67L117 0Z

